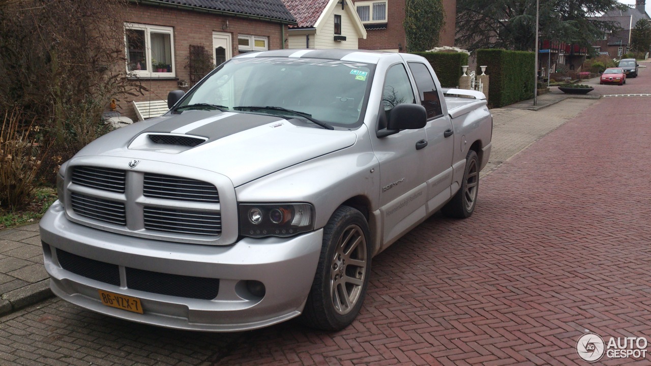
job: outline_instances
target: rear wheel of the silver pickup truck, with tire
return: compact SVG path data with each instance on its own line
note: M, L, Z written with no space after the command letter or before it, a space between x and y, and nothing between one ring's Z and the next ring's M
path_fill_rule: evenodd
M470 150L465 156L465 171L461 188L450 202L441 208L441 212L450 218L465 219L470 217L475 212L478 190L479 158L477 158L475 150Z

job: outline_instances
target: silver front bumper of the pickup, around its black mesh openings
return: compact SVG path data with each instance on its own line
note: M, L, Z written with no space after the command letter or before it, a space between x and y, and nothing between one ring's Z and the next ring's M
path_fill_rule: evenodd
M112 317L199 331L242 331L270 326L303 310L322 246L322 229L291 238L244 238L232 246L206 246L135 238L69 221L57 201L40 221L52 291L68 302ZM64 270L57 249L117 265L120 285ZM219 279L212 300L128 288L125 268ZM245 281L264 284L264 296ZM139 298L144 314L102 305L98 290Z

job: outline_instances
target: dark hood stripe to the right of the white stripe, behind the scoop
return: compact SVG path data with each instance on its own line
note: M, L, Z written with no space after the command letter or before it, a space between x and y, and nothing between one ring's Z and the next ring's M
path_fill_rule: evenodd
M210 141L214 141L279 120L283 120L283 117L238 113L225 119L204 124L204 126L190 130L187 134L208 137Z

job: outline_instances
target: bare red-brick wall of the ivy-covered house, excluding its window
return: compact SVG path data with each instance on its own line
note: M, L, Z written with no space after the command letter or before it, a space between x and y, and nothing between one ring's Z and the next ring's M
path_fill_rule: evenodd
M353 0L366 1L366 0ZM454 46L456 0L443 0L445 25L441 29L439 46ZM387 1L387 29L367 29L367 39L359 40L361 49L398 49L404 51L407 43L402 22L405 19L405 0Z

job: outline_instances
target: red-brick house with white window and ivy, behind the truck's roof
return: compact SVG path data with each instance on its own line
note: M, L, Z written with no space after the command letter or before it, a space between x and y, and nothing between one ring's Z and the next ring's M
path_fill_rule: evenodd
M405 0L353 0L357 14L367 30L367 38L359 40L359 48L402 52L407 38L402 22ZM439 46L454 46L456 0L443 0L445 25L439 35Z

